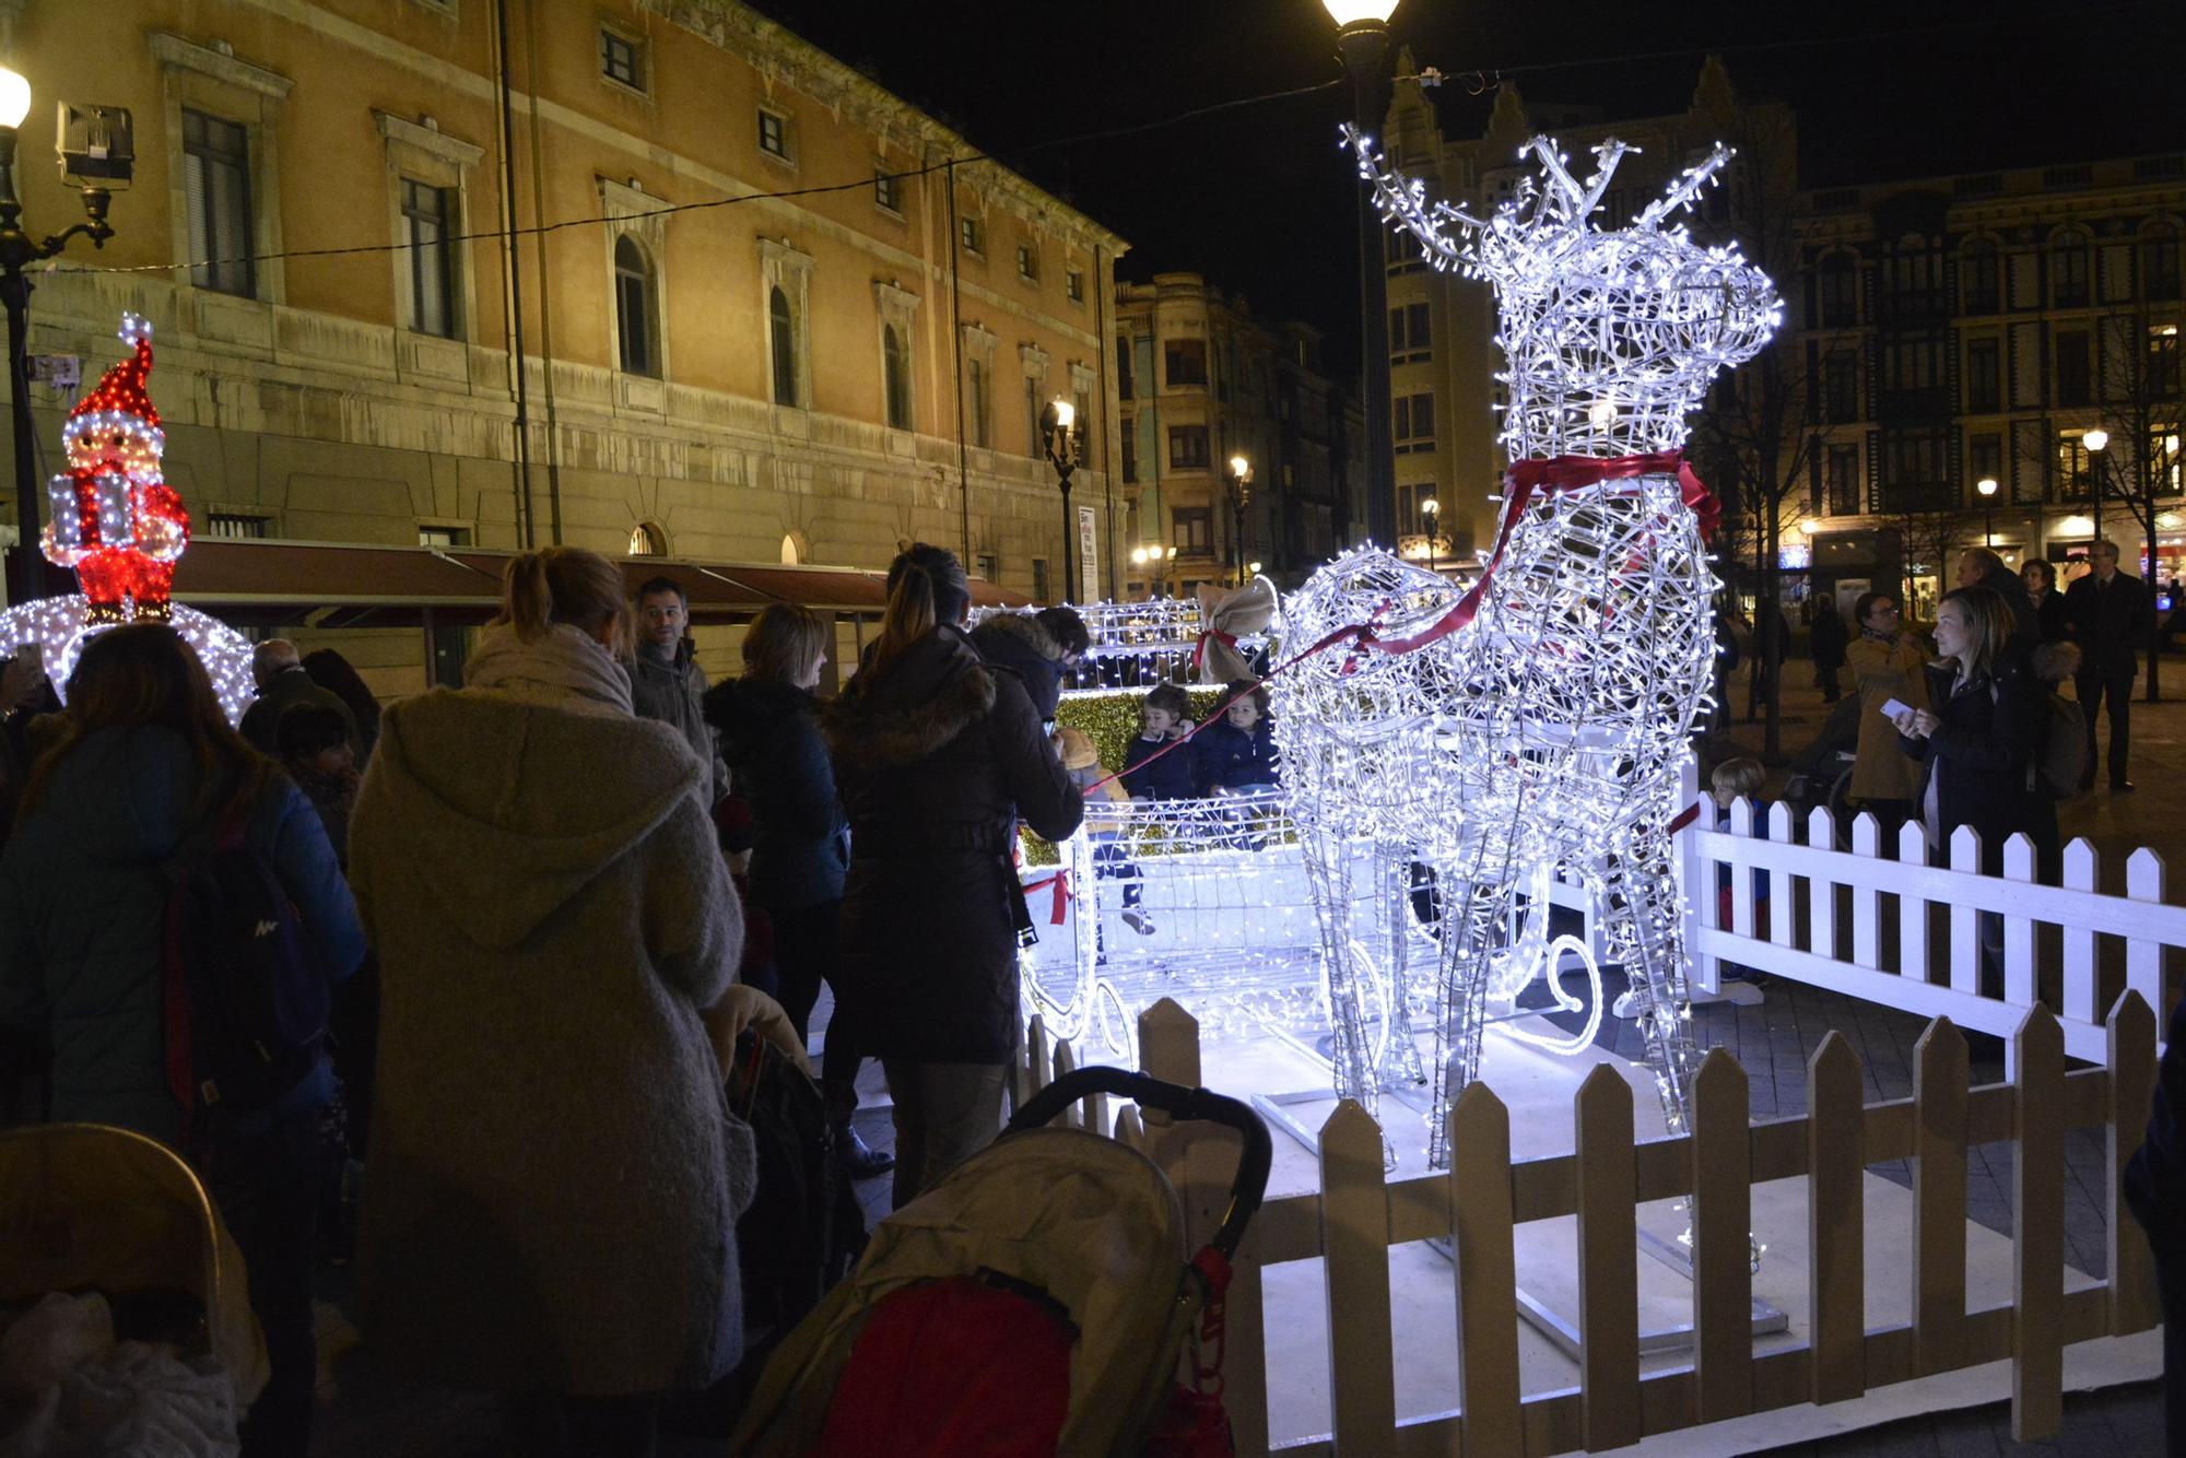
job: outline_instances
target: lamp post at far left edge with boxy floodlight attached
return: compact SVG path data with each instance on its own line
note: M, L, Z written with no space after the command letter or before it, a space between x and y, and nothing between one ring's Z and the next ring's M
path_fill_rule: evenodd
M136 151L129 111L120 107L70 107L61 103L55 151L61 153L61 179L83 190L85 221L63 232L33 238L22 227L22 199L15 197L15 140L22 118L31 114L31 83L0 66L0 306L7 308L7 374L9 424L15 437L15 522L22 529L22 592L46 595L46 560L39 553L39 483L31 420L31 280L24 269L44 262L85 236L92 247L105 247L114 236L107 225L107 203L129 186Z

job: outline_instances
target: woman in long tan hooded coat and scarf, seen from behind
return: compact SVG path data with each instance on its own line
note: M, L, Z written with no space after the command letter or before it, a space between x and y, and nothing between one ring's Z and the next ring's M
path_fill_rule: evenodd
M468 686L387 710L350 835L385 979L365 1340L586 1454L651 1451L654 1395L737 1364L752 1194L700 1023L743 916L706 765L630 710L625 614L606 560L516 557Z

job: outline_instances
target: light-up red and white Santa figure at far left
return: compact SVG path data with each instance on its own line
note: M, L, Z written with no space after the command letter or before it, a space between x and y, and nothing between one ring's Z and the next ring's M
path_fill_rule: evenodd
M131 354L68 411L68 472L46 487L52 520L42 546L48 562L74 568L85 627L164 623L175 557L190 544L190 514L160 470L166 433L144 389L151 324L122 315L120 337Z

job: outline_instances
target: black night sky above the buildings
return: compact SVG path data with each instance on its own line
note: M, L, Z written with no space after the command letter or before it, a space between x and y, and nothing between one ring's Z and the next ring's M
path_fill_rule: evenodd
M1320 0L756 2L1124 234L1124 278L1207 273L1327 330L1331 367L1355 361L1349 85L1154 125L1340 81ZM1716 50L1742 96L1795 105L1803 186L2186 146L2179 0L1403 0L1392 31L1452 77L1445 136L1480 133L1500 77L1605 118L1681 111ZM1069 140L1119 127L1145 129Z

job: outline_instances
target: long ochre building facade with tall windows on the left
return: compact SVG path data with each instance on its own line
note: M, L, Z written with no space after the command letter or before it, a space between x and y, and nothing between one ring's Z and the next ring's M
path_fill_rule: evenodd
M1034 424L1062 398L1110 586L1128 245L756 11L509 7L505 50L485 0L0 11L33 225L81 216L55 98L136 116L116 236L37 275L31 348L96 378L120 310L153 321L199 533L846 566L931 540L1078 595ZM39 389L48 457L68 404Z

